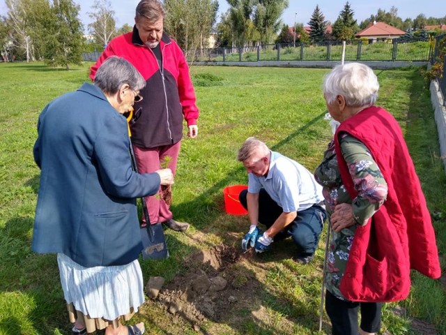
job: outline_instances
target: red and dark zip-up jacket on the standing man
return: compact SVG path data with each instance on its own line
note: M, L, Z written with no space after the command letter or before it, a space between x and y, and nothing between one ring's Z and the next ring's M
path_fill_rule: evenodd
M132 142L137 147L153 148L175 144L183 137L183 119L187 126L197 124L199 110L183 51L167 34L160 41L162 68L151 48L139 38L136 27L118 36L102 52L91 67L94 80L99 66L110 56L130 61L146 80L140 94L144 100L134 104L130 121Z

